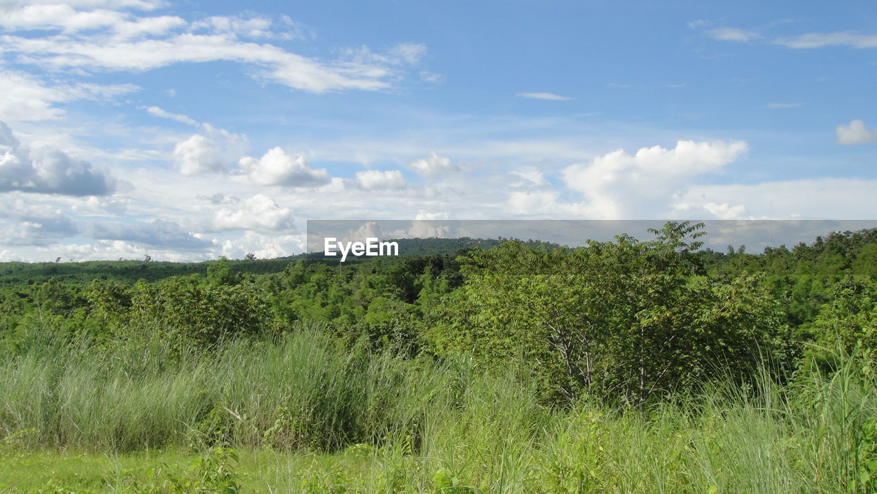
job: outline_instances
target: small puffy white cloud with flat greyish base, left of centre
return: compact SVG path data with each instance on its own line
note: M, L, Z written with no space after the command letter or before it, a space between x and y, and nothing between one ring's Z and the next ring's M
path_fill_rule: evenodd
M281 147L269 149L259 159L246 156L239 165L257 185L319 187L332 180L325 168L310 168L304 156L290 156Z

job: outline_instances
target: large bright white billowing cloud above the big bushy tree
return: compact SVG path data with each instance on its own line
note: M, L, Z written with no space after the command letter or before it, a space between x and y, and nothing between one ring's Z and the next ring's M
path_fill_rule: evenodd
M666 214L670 198L699 175L716 172L748 149L745 142L680 140L674 149L619 149L590 163L561 170L567 187L581 192L591 218L631 219ZM539 197L545 202L546 197Z

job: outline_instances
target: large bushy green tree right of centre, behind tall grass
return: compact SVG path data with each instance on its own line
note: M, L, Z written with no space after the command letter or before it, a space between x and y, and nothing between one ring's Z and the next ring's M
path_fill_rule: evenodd
M467 308L445 340L494 365L523 358L555 399L588 392L637 405L717 369L751 369L753 349L774 352L779 320L758 277L703 276L700 224L653 233L577 249L473 250L461 260Z

